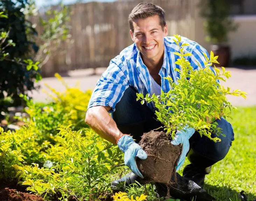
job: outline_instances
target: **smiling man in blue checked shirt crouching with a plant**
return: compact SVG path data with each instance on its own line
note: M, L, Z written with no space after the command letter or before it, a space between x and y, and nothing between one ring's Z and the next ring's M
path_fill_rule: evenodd
M125 152L125 164L136 175L143 177L137 168L135 159L146 159L147 154L137 144L143 133L161 127L156 121L154 105L136 101L136 92L161 94L167 92L169 83L164 77L168 75L177 80L179 68L175 64L179 50L173 37L167 37L164 10L152 3L139 3L129 15L130 35L134 44L125 48L111 60L109 67L102 74L93 91L86 113L86 123L102 138L117 144ZM204 67L206 50L198 43L182 37L182 43L188 43L186 52L192 56L187 59L194 70ZM112 114L112 116L109 115ZM183 144L182 156L176 170L180 168L187 155L191 164L183 171L183 176L203 187L205 174L211 166L223 159L234 140L232 126L225 119L217 119L218 126L226 135L219 136L221 142L215 143L205 136L186 128L186 132L177 131L174 145ZM131 136L133 137L131 137ZM212 133L215 137L216 134ZM135 139L135 141L133 140ZM188 154L187 154L188 153ZM134 177L134 176L133 176ZM116 185L124 178L114 181ZM129 183L131 179L126 181Z

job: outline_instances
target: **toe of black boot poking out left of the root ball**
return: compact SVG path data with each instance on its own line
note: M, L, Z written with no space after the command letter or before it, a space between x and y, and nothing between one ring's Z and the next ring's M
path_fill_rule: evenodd
M129 186L130 184L133 184L135 181L139 180L139 178L140 178L139 176L137 176L133 172L130 172L126 174L126 176L122 177L121 179L112 181L111 189L123 190L125 186Z

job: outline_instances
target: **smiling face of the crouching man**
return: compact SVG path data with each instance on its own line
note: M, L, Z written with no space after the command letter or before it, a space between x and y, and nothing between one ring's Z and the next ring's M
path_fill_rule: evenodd
M157 15L133 22L134 32L130 35L144 59L158 60L164 51L164 37L168 35L167 26L162 29Z

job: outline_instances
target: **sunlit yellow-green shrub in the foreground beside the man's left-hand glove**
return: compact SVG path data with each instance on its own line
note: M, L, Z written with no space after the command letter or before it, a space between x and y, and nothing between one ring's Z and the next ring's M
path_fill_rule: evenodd
M113 174L121 170L122 152L90 129L72 131L67 126L59 130L57 144L47 151L53 162L49 170L38 165L15 166L22 184L46 200L56 195L60 200L73 195L80 201L104 196Z

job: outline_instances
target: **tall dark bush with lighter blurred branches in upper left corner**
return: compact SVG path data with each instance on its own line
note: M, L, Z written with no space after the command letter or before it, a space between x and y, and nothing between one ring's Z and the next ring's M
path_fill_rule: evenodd
M0 100L5 91L13 98L14 105L21 104L20 94L27 95L36 89L34 82L42 79L42 65L70 38L68 7L49 8L45 16L40 17L38 24L42 33L39 36L36 24L29 21L34 15L38 15L34 0L0 2L0 73L6 75L0 79Z

